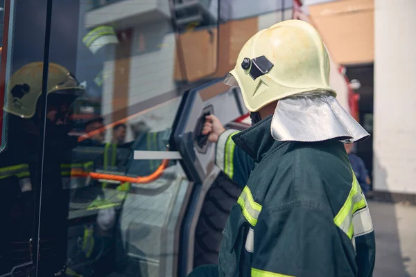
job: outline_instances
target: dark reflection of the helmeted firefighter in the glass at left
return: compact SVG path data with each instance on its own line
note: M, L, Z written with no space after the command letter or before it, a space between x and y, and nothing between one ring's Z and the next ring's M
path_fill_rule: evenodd
M0 213L3 226L7 226L0 238L0 275L15 265L25 262L35 265L36 261L37 276L64 276L66 271L67 186L71 150L76 146L76 138L71 139L68 132L71 105L85 90L63 66L49 63L46 120L43 122L40 101L43 67L43 62L26 64L9 81L8 102L4 108L8 113L7 142L0 154ZM44 135L40 132L42 126ZM42 165L38 161L42 161ZM33 235L37 233L37 190L41 190L42 195L39 256L37 245L33 244L36 241ZM27 276L24 272L21 274Z

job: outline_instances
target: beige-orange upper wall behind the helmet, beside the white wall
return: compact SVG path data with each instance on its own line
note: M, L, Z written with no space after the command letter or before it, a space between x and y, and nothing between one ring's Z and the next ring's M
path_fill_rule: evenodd
M374 0L333 1L308 9L335 62L374 62Z

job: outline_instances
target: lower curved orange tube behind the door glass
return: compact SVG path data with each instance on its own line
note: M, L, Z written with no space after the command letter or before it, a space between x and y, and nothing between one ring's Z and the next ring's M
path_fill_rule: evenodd
M122 183L129 182L129 183L136 183L136 184L147 184L151 181L155 181L160 176L162 176L163 171L165 168L168 167L169 160L163 160L160 166L150 175L147 176L138 176L138 177L128 177L123 175L114 175L114 174L107 174L107 173L98 173L98 172L83 172L78 170L72 170L71 176L72 177L87 177L90 176L92 179L104 179L109 181L120 181Z

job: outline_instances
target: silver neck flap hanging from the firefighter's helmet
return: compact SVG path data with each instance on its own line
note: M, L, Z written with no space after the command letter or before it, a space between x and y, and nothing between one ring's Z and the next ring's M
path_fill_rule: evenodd
M360 124L329 93L309 92L279 100L271 133L277 141L354 143L367 139Z

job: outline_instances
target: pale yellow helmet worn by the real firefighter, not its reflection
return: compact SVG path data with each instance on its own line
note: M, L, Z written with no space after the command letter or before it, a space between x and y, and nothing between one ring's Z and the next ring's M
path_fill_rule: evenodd
M249 111L276 100L329 86L329 54L318 31L300 20L260 30L245 43L225 84L238 86Z

